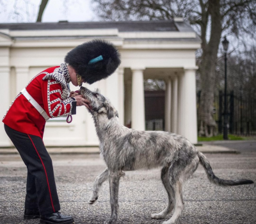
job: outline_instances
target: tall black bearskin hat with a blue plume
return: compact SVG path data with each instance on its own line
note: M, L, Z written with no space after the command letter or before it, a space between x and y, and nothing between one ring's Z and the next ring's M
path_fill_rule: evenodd
M116 47L105 40L92 40L78 45L65 56L68 63L86 83L106 79L120 65Z

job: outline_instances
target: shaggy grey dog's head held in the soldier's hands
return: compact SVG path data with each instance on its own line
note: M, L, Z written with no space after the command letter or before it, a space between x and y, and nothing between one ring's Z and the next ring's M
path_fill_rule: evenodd
M109 120L115 116L118 117L116 109L104 95L100 94L99 89L92 92L88 90L88 88L81 86L80 93L90 102L91 109L88 109L88 111L92 113L92 115L107 116Z

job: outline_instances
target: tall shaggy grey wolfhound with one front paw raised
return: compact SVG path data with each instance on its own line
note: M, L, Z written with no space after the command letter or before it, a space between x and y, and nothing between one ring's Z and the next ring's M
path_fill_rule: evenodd
M109 177L111 216L105 223L116 223L118 216L118 186L125 170L162 166L161 179L168 193L167 207L152 214L163 219L174 209L173 216L164 224L178 223L184 203L182 185L195 172L198 164L204 166L207 177L220 186L253 184L252 180L223 180L212 172L206 157L186 138L163 131L135 131L118 122L118 113L98 90L91 92L81 87L81 94L90 101L93 120L100 140L100 152L108 166L93 184L93 204L102 183Z

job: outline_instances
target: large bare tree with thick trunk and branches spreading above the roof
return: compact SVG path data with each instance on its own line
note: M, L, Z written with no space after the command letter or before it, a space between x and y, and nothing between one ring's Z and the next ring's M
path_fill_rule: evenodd
M202 39L198 58L201 98L199 106L200 136L212 136L216 122L212 116L216 88L216 63L221 35L237 40L244 33L254 34L255 0L95 0L95 12L103 20L169 20L184 17Z

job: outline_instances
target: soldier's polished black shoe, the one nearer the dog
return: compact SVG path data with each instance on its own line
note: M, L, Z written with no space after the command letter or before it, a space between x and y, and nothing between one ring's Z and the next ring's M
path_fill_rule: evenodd
M71 224L71 223L74 223L74 219L71 216L65 216L63 214L60 214L60 212L54 212L52 214L45 214L44 216L41 216L40 223L45 223L45 224L55 224L55 223Z

